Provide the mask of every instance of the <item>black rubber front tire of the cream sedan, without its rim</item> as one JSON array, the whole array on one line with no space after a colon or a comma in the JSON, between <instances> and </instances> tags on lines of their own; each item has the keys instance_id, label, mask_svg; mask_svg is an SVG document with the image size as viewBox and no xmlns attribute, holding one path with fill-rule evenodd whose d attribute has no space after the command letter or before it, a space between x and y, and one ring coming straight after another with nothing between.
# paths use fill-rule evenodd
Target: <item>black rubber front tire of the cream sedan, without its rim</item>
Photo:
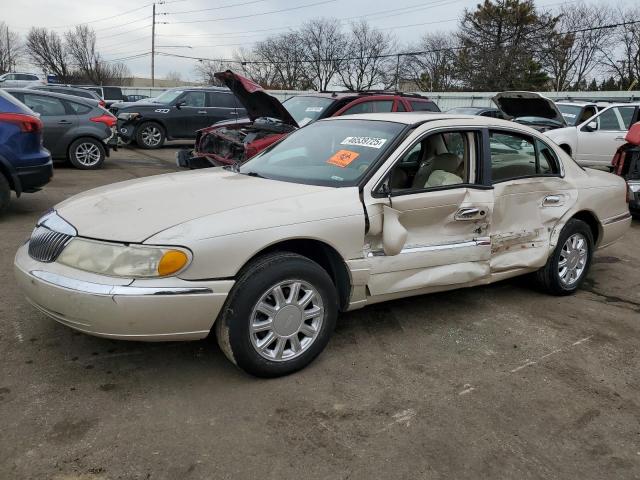
<instances>
[{"instance_id":1,"label":"black rubber front tire of the cream sedan, without its rim","mask_svg":"<svg viewBox=\"0 0 640 480\"><path fill-rule=\"evenodd\" d=\"M254 307L260 303L267 292L272 291L272 287L294 280L311 286L317 296L320 297L324 307L323 314L318 316L318 319L322 318L321 324L316 330L317 333L313 337L314 339L309 341L306 347L300 347L301 342L297 340L296 343L300 348L297 354L294 353L293 343L290 343L291 340L284 341L283 348L286 349L286 346L289 346L285 352L288 351L289 355L297 356L289 360L270 360L259 354L258 347L254 347L253 344L256 337L251 332L250 324L253 322ZM287 290L287 287L283 286L282 291L289 292L286 295L289 297L287 301L293 298L292 290ZM304 293L301 290L303 297ZM286 302L285 306L289 307ZM312 306L312 308L317 307ZM240 274L227 299L223 314L215 324L216 337L226 357L245 372L258 377L279 377L304 368L324 350L335 328L337 316L338 295L327 272L320 265L306 257L294 253L278 252L256 259ZM273 318L275 319L276 316L274 315ZM280 320L282 319L283 317L280 317ZM285 320L285 322L288 321L290 321L290 317ZM302 323L305 322L304 320L302 321ZM273 325L273 332L265 332L265 337L270 334L275 335L275 320ZM278 325L283 324L279 323ZM306 338L303 333L294 333L293 336L296 338L302 336L303 342ZM269 343L274 345L273 350L264 348L263 351L269 350L275 355L280 340L274 337L271 342ZM268 346L265 345L265 347ZM282 355L284 355L284 352Z\"/></svg>"}]
</instances>

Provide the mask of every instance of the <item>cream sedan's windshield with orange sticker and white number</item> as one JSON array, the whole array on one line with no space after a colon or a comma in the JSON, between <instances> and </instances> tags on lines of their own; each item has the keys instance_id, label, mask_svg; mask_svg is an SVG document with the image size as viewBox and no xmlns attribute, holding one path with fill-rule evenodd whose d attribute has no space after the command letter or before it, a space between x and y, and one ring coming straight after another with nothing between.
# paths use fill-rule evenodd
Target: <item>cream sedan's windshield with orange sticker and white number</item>
<instances>
[{"instance_id":1,"label":"cream sedan's windshield with orange sticker and white number","mask_svg":"<svg viewBox=\"0 0 640 480\"><path fill-rule=\"evenodd\" d=\"M285 182L354 186L404 128L376 120L316 122L264 150L239 171Z\"/></svg>"}]
</instances>

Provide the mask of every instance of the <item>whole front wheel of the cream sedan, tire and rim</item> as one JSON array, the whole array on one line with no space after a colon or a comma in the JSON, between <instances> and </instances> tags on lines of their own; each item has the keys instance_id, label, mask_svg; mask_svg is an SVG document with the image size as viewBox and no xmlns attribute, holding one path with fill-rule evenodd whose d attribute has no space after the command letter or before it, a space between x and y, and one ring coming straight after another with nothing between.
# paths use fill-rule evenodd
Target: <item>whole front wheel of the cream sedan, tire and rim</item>
<instances>
[{"instance_id":1,"label":"whole front wheel of the cream sedan, tire and rim","mask_svg":"<svg viewBox=\"0 0 640 480\"><path fill-rule=\"evenodd\" d=\"M259 258L238 279L216 322L227 358L259 377L304 368L335 327L338 296L327 272L293 253Z\"/></svg>"}]
</instances>

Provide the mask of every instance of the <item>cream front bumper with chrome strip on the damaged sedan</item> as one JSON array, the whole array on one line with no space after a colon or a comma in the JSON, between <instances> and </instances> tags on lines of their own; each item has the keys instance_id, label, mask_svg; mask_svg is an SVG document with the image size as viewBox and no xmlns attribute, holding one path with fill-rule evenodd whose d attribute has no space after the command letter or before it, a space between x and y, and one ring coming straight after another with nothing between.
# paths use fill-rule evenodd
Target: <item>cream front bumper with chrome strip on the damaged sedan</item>
<instances>
[{"instance_id":1,"label":"cream front bumper with chrome strip on the damaged sedan","mask_svg":"<svg viewBox=\"0 0 640 480\"><path fill-rule=\"evenodd\" d=\"M121 340L206 337L232 280L117 279L32 259L23 245L14 269L29 302L73 329Z\"/></svg>"}]
</instances>

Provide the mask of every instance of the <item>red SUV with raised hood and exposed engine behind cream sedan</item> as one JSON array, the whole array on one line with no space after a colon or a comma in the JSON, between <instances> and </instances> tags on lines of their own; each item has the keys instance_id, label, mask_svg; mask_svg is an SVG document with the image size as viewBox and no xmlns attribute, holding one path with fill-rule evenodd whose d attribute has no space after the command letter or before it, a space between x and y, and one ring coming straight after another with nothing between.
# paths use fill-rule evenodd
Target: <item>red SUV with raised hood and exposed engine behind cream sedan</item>
<instances>
[{"instance_id":1,"label":"red SUV with raised hood and exposed engine behind cream sedan","mask_svg":"<svg viewBox=\"0 0 640 480\"><path fill-rule=\"evenodd\" d=\"M249 118L218 122L196 132L194 150L182 150L177 163L185 168L240 164L292 131L322 118L355 113L439 112L428 98L407 93L318 92L296 95L283 103L260 85L229 70L221 80L236 95Z\"/></svg>"}]
</instances>

